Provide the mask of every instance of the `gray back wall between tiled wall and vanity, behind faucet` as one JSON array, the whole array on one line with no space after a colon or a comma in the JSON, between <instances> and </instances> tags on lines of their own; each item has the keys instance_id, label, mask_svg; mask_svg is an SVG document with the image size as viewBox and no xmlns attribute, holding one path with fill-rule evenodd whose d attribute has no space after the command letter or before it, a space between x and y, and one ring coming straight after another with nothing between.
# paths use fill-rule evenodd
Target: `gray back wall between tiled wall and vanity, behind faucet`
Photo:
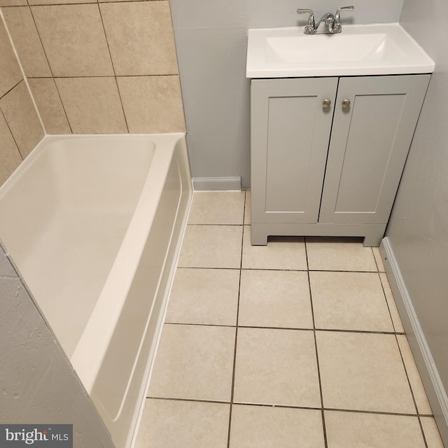
<instances>
[{"instance_id":1,"label":"gray back wall between tiled wall and vanity, behind faucet","mask_svg":"<svg viewBox=\"0 0 448 448\"><path fill-rule=\"evenodd\" d=\"M171 0L174 35L195 177L241 176L250 184L249 28L304 25L297 8L316 17L353 4L346 22L398 22L402 0ZM300 22L299 22L300 20Z\"/></svg>"}]
</instances>

